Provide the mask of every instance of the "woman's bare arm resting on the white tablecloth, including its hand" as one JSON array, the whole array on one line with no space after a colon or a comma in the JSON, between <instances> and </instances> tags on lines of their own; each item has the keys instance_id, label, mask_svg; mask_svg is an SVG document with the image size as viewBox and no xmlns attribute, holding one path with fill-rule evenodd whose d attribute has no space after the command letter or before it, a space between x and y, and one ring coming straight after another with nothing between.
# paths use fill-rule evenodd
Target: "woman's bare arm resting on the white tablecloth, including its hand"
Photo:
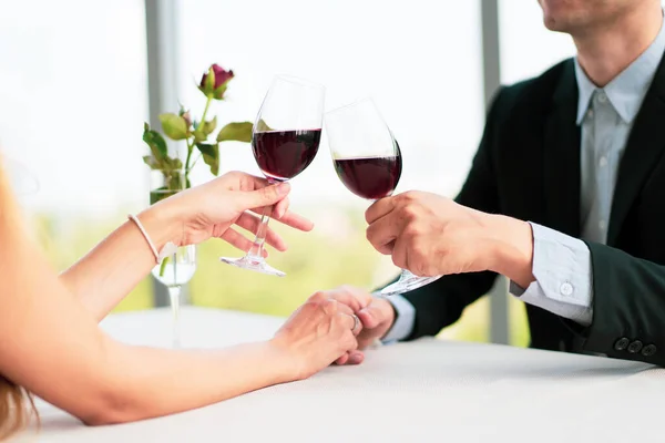
<instances>
[{"instance_id":1,"label":"woman's bare arm resting on the white tablecloth, including its hand","mask_svg":"<svg viewBox=\"0 0 665 443\"><path fill-rule=\"evenodd\" d=\"M308 377L357 346L351 317L329 300L306 303L266 342L218 351L120 343L7 214L0 213L0 373L86 423L185 411ZM134 253L135 266L151 266L150 250Z\"/></svg>"}]
</instances>

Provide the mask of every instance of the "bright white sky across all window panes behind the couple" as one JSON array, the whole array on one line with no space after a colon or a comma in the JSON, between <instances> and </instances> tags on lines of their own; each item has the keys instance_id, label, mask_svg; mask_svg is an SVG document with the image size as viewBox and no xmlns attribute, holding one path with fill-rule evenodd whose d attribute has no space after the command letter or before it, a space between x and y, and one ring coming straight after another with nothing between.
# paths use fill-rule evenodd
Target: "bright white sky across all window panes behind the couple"
<instances>
[{"instance_id":1,"label":"bright white sky across all window panes behind the couple","mask_svg":"<svg viewBox=\"0 0 665 443\"><path fill-rule=\"evenodd\" d=\"M329 110L372 95L402 147L398 190L453 195L483 124L480 1L182 1L181 100L201 112L194 84L213 62L237 75L214 110L222 122L253 121L276 73L326 84ZM0 145L41 184L24 200L61 217L145 204L143 2L0 0ZM573 54L535 1L501 0L500 12L504 83ZM365 205L327 150L294 181L294 203ZM223 153L223 171L258 173L247 145Z\"/></svg>"}]
</instances>

